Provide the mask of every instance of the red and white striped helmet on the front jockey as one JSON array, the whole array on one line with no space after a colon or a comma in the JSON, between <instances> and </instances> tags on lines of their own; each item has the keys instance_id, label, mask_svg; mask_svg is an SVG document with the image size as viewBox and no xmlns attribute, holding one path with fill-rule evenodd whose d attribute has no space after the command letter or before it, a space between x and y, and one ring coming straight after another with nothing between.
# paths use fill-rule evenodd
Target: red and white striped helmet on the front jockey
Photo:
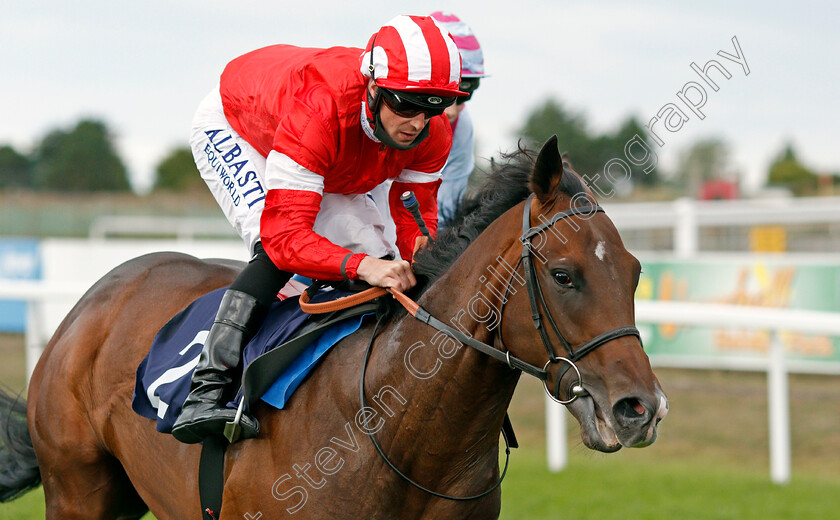
<instances>
[{"instance_id":1,"label":"red and white striped helmet on the front jockey","mask_svg":"<svg viewBox=\"0 0 840 520\"><path fill-rule=\"evenodd\" d=\"M365 47L361 71L382 88L444 97L467 95L458 90L458 47L429 16L397 16L383 25Z\"/></svg>"}]
</instances>

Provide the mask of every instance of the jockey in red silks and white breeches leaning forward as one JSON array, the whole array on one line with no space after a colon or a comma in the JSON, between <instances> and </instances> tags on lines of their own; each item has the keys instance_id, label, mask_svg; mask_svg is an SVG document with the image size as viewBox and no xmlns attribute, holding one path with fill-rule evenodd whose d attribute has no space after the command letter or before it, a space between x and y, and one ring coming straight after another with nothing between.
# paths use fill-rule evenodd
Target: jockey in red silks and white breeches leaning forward
<instances>
[{"instance_id":1,"label":"jockey in red silks and white breeches leaning forward","mask_svg":"<svg viewBox=\"0 0 840 520\"><path fill-rule=\"evenodd\" d=\"M440 172L452 144L443 116L460 56L432 18L398 16L363 49L275 45L230 62L202 101L190 146L210 190L253 255L222 298L172 434L221 434L235 411L227 385L291 273L406 290L426 240L402 206L413 190L437 228ZM393 179L394 244L365 194ZM259 433L243 414L242 437Z\"/></svg>"}]
</instances>

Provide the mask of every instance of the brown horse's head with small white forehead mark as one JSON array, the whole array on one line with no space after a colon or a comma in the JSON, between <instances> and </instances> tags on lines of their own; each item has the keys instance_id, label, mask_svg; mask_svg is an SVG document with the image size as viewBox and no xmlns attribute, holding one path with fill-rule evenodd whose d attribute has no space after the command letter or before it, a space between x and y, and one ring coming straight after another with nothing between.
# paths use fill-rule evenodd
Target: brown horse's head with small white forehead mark
<instances>
[{"instance_id":1,"label":"brown horse's head with small white forehead mark","mask_svg":"<svg viewBox=\"0 0 840 520\"><path fill-rule=\"evenodd\" d=\"M540 151L530 186L519 270L529 287L510 295L507 305L518 311L506 313L502 336L525 361L552 359L546 388L572 400L587 447L647 446L668 405L633 326L641 265L571 165L564 167L556 137Z\"/></svg>"}]
</instances>

